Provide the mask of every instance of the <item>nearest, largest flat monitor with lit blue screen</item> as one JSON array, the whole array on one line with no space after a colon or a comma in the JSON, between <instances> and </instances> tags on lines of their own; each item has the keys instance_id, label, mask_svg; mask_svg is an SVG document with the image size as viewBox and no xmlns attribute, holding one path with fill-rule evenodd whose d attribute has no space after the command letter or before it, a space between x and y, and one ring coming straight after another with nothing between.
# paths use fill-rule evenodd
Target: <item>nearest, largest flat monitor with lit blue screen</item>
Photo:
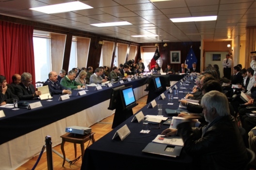
<instances>
[{"instance_id":1,"label":"nearest, largest flat monitor with lit blue screen","mask_svg":"<svg viewBox=\"0 0 256 170\"><path fill-rule=\"evenodd\" d=\"M134 106L138 105L136 103L136 99L134 96L132 86L128 86L128 87L120 89L120 94L121 94L123 109L129 110L129 109L133 108Z\"/></svg>"}]
</instances>

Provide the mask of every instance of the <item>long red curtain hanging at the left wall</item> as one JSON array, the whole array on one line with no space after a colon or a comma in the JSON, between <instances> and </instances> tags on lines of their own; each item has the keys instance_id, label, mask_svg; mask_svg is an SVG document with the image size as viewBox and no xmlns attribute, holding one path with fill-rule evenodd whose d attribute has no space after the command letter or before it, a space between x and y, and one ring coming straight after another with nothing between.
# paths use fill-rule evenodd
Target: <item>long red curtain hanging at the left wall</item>
<instances>
[{"instance_id":1,"label":"long red curtain hanging at the left wall","mask_svg":"<svg viewBox=\"0 0 256 170\"><path fill-rule=\"evenodd\" d=\"M33 27L0 21L0 75L12 83L12 75L29 72L35 84Z\"/></svg>"}]
</instances>

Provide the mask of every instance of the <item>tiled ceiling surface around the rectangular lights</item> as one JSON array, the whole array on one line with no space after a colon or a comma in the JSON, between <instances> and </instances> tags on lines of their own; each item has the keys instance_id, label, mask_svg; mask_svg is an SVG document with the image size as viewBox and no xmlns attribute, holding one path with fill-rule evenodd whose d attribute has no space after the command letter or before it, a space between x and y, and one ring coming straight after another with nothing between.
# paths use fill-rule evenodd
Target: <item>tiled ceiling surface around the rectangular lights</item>
<instances>
[{"instance_id":1,"label":"tiled ceiling surface around the rectangular lights","mask_svg":"<svg viewBox=\"0 0 256 170\"><path fill-rule=\"evenodd\" d=\"M78 29L132 42L208 42L245 40L246 27L256 26L255 0L80 0L93 9L59 14L29 10L76 0L0 0L0 14ZM173 23L169 18L217 15L217 21ZM132 25L90 24L128 21ZM159 37L134 38L131 35Z\"/></svg>"}]
</instances>

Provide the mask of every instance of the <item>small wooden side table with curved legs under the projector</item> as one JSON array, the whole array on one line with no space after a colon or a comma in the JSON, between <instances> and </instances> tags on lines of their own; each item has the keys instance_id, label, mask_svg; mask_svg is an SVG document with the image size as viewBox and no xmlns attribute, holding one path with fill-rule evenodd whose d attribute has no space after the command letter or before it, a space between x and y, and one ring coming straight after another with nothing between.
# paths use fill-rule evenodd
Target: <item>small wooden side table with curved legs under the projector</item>
<instances>
[{"instance_id":1,"label":"small wooden side table with curved legs under the projector","mask_svg":"<svg viewBox=\"0 0 256 170\"><path fill-rule=\"evenodd\" d=\"M82 153L82 158L83 158L84 143L90 140L90 136L91 136L91 139L92 139L92 143L95 142L95 139L94 139L95 132L91 132L90 134L91 135L89 135L89 134L86 134L86 135L76 134L75 135L73 133L66 133L66 134L61 136L61 138L62 138L61 150L62 150L62 154L63 154L63 164L62 164L62 166L63 167L64 167L65 160L66 160L65 151L64 151L64 144L65 144L65 142L74 143L75 157L77 157L77 143L80 143L81 153Z\"/></svg>"}]
</instances>

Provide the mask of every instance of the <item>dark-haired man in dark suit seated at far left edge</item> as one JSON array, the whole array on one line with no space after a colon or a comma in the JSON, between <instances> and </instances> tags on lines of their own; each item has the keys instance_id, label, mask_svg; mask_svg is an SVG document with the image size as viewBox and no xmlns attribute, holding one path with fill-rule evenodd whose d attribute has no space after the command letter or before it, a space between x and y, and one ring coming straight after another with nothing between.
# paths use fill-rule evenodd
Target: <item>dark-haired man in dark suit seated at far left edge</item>
<instances>
[{"instance_id":1,"label":"dark-haired man in dark suit seated at far left edge","mask_svg":"<svg viewBox=\"0 0 256 170\"><path fill-rule=\"evenodd\" d=\"M13 99L19 100L18 97L7 88L6 78L0 75L0 106L13 103Z\"/></svg>"}]
</instances>

